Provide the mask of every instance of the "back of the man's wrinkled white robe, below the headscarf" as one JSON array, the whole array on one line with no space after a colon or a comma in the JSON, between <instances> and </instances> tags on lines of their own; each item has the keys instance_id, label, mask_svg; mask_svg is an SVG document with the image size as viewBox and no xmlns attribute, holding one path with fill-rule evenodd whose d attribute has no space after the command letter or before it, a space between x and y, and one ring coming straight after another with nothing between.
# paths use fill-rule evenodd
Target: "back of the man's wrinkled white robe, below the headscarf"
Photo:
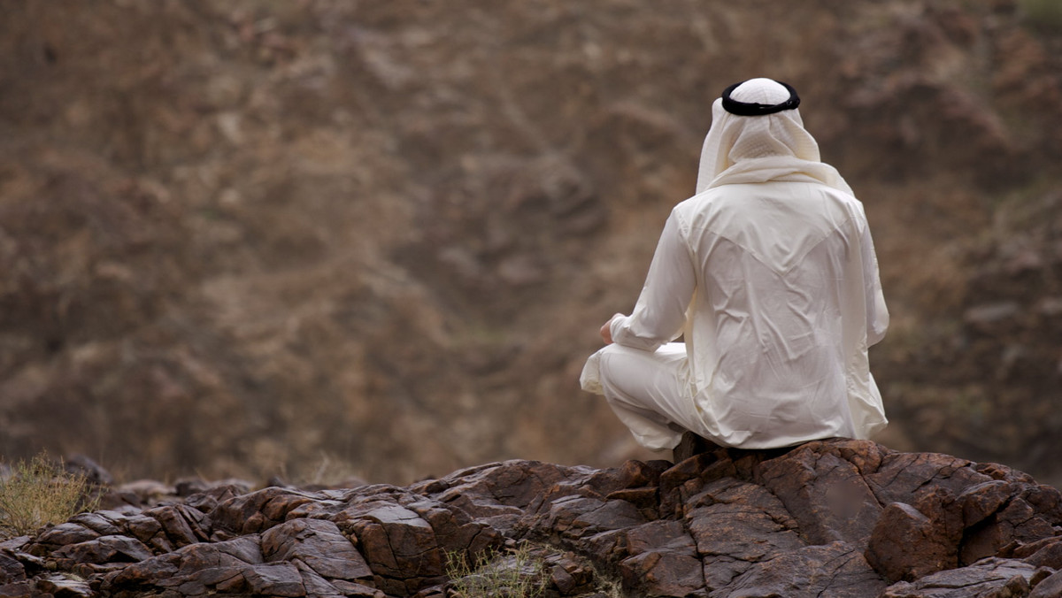
<instances>
[{"instance_id":1,"label":"back of the man's wrinkled white robe, below the headscarf","mask_svg":"<svg viewBox=\"0 0 1062 598\"><path fill-rule=\"evenodd\" d=\"M849 365L874 301L859 203L817 183L723 185L674 216L698 276L691 381L715 434L750 447L855 435L849 389L869 371Z\"/></svg>"}]
</instances>

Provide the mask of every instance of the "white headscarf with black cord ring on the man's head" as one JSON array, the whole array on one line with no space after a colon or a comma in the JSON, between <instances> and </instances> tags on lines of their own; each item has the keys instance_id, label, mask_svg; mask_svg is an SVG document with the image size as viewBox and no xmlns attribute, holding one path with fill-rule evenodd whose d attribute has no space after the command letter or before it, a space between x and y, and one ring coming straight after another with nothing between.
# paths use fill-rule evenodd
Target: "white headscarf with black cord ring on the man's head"
<instances>
[{"instance_id":1,"label":"white headscarf with black cord ring on the man's head","mask_svg":"<svg viewBox=\"0 0 1062 598\"><path fill-rule=\"evenodd\" d=\"M804 181L851 194L840 173L820 160L819 144L804 129L799 104L792 87L770 79L727 87L712 104L697 192L736 183Z\"/></svg>"}]
</instances>

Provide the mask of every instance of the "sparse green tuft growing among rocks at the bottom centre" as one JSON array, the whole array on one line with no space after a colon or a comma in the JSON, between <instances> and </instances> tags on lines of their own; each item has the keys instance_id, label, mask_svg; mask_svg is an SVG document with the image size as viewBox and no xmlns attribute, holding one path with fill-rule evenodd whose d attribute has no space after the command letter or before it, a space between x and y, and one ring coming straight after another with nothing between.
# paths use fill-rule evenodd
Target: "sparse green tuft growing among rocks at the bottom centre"
<instances>
[{"instance_id":1,"label":"sparse green tuft growing among rocks at the bottom centre","mask_svg":"<svg viewBox=\"0 0 1062 598\"><path fill-rule=\"evenodd\" d=\"M446 553L450 587L463 598L536 598L543 595L545 561L524 544L513 550L487 548L470 562L463 552Z\"/></svg>"}]
</instances>

